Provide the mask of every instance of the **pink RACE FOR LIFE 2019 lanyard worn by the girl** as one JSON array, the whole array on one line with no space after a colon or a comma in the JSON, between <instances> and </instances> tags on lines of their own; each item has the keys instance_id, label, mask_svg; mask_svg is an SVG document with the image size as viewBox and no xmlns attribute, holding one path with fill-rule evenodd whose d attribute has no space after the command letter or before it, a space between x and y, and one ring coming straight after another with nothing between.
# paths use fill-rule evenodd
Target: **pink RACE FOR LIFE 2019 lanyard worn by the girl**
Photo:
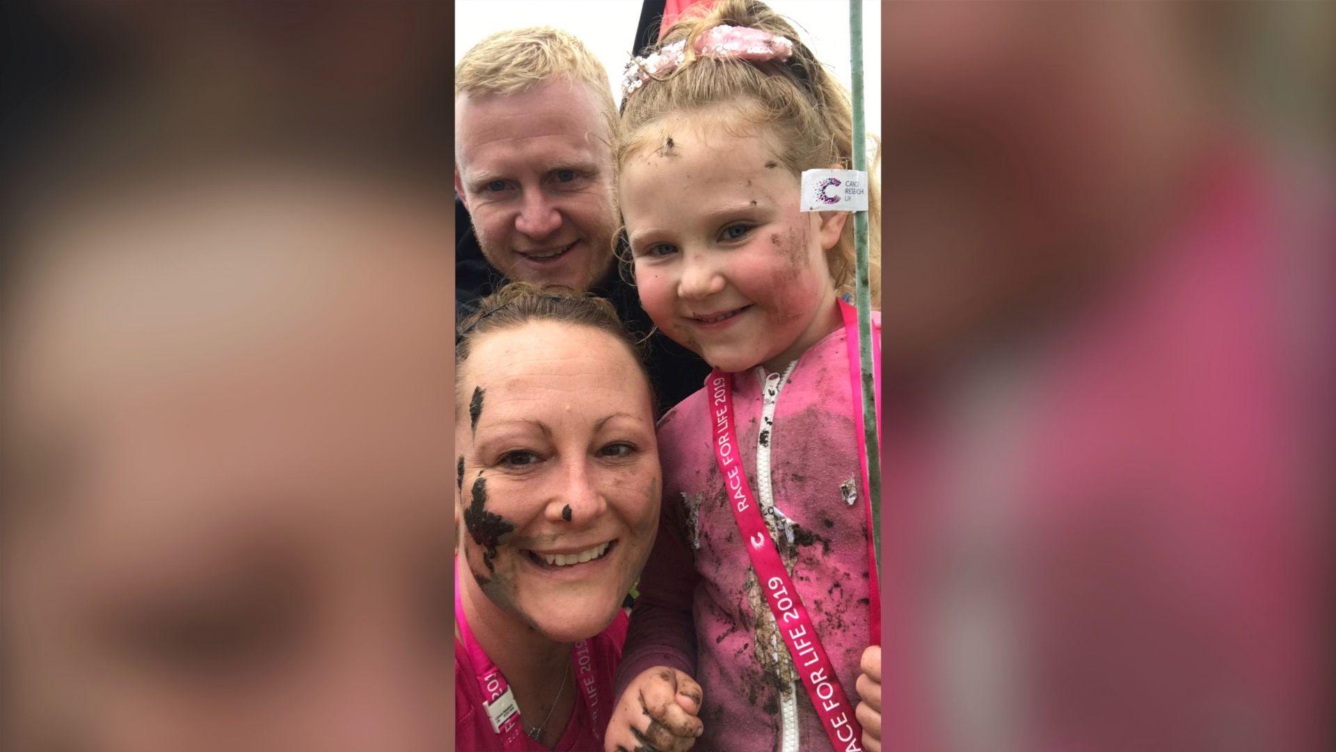
<instances>
[{"instance_id":1,"label":"pink RACE FOR LIFE 2019 lanyard worn by the girl","mask_svg":"<svg viewBox=\"0 0 1336 752\"><path fill-rule=\"evenodd\" d=\"M868 511L866 515L868 518L868 531L871 531L871 499L867 495L867 459L866 450L863 447L862 438L862 388L859 381L859 368L858 368L858 321L856 314L851 320L850 312L852 306L840 301L840 313L844 318L844 331L847 336L847 343L850 348L850 361L852 364L851 379L854 384L854 403L855 413L859 416L859 454L863 458L863 498L868 500L864 504ZM876 339L872 340L874 353L880 349L878 347ZM874 359L875 361L875 359ZM880 397L880 381L878 383L878 397ZM826 649L822 648L822 642L816 636L816 629L812 626L811 618L807 616L807 607L803 605L802 598L798 595L798 590L794 587L788 573L784 570L784 563L779 558L779 551L775 550L775 542L770 537L770 530L766 529L766 522L760 516L760 507L756 504L756 498L752 495L751 486L747 483L747 474L743 471L740 454L737 447L737 435L733 430L733 396L732 384L729 376L715 369L709 375L707 381L707 388L709 389L713 409L713 432L715 432L715 460L719 463L719 471L724 476L724 483L728 487L728 498L732 502L729 506L733 510L733 519L737 521L737 529L743 534L743 539L747 541L747 554L751 558L752 569L756 571L756 579L762 585L762 590L766 593L766 601L770 603L771 613L775 614L775 622L779 626L780 633L784 636L784 644L788 646L788 653L794 658L794 666L798 669L803 678L803 685L807 688L807 696L812 701L812 708L816 711L818 717L822 720L822 728L826 729L826 735L831 740L831 747L835 749L843 749L846 752L860 752L863 729L859 727L858 720L854 717L854 705L848 702L844 696L844 689L839 684L839 677L835 676L835 670L831 666L830 658L826 656ZM880 416L880 400L878 400L878 416ZM878 420L880 424L880 420ZM878 427L878 430L880 430ZM872 558L872 543L871 537L868 537L868 558ZM880 618L879 618L879 597L878 597L878 578L876 566L868 567L871 570L868 583L871 586L871 606L872 606L872 640L875 644L880 644Z\"/></svg>"}]
</instances>

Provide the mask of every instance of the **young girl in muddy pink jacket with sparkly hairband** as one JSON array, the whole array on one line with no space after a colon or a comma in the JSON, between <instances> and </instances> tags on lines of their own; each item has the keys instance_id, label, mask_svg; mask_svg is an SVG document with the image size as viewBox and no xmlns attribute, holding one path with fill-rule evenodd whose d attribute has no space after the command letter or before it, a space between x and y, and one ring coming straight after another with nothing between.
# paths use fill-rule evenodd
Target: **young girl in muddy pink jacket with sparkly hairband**
<instances>
[{"instance_id":1,"label":"young girl in muddy pink jacket with sparkly hairband","mask_svg":"<svg viewBox=\"0 0 1336 752\"><path fill-rule=\"evenodd\" d=\"M663 515L605 748L876 749L879 601L840 300L854 222L799 202L803 170L850 166L848 98L741 0L675 24L625 86L640 298L715 372L659 426Z\"/></svg>"}]
</instances>

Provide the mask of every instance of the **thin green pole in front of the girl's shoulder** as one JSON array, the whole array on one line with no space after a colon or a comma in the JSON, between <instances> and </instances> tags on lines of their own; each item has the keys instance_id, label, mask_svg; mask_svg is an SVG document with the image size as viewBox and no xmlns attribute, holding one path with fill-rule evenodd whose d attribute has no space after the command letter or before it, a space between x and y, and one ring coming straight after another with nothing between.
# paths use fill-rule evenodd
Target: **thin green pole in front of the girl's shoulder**
<instances>
[{"instance_id":1,"label":"thin green pole in front of the girl's shoulder","mask_svg":"<svg viewBox=\"0 0 1336 752\"><path fill-rule=\"evenodd\" d=\"M867 134L863 126L863 0L848 1L848 56L854 91L854 169L867 170ZM868 181L871 183L871 181ZM871 185L868 185L871 187ZM871 191L868 191L871 199ZM876 442L876 403L872 383L872 289L868 281L867 211L854 213L854 304L858 309L858 357L863 384L863 444L867 447L867 502L872 506L872 546L882 569L882 452Z\"/></svg>"}]
</instances>

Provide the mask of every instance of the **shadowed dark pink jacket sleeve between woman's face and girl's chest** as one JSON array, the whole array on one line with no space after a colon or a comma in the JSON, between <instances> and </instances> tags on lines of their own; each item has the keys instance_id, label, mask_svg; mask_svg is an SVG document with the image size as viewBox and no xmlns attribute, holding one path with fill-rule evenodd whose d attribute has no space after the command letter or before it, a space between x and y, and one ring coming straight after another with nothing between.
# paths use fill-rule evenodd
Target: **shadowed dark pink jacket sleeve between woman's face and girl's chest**
<instances>
[{"instance_id":1,"label":"shadowed dark pink jacket sleeve between woman's face and girl's chest","mask_svg":"<svg viewBox=\"0 0 1336 752\"><path fill-rule=\"evenodd\" d=\"M615 696L640 672L672 666L696 673L696 628L691 616L696 591L695 559L683 538L681 504L664 499L659 534L640 575L640 597L631 612L631 628L617 668Z\"/></svg>"}]
</instances>

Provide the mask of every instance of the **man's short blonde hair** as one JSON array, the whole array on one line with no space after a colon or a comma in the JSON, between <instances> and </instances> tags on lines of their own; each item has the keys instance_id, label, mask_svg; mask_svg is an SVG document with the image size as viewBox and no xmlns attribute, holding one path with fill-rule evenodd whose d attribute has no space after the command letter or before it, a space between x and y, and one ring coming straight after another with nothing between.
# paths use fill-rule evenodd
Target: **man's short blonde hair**
<instances>
[{"instance_id":1,"label":"man's short blonde hair","mask_svg":"<svg viewBox=\"0 0 1336 752\"><path fill-rule=\"evenodd\" d=\"M454 67L454 98L464 94L517 94L553 80L587 84L617 132L617 104L608 70L574 36L552 27L498 31L473 45Z\"/></svg>"}]
</instances>

